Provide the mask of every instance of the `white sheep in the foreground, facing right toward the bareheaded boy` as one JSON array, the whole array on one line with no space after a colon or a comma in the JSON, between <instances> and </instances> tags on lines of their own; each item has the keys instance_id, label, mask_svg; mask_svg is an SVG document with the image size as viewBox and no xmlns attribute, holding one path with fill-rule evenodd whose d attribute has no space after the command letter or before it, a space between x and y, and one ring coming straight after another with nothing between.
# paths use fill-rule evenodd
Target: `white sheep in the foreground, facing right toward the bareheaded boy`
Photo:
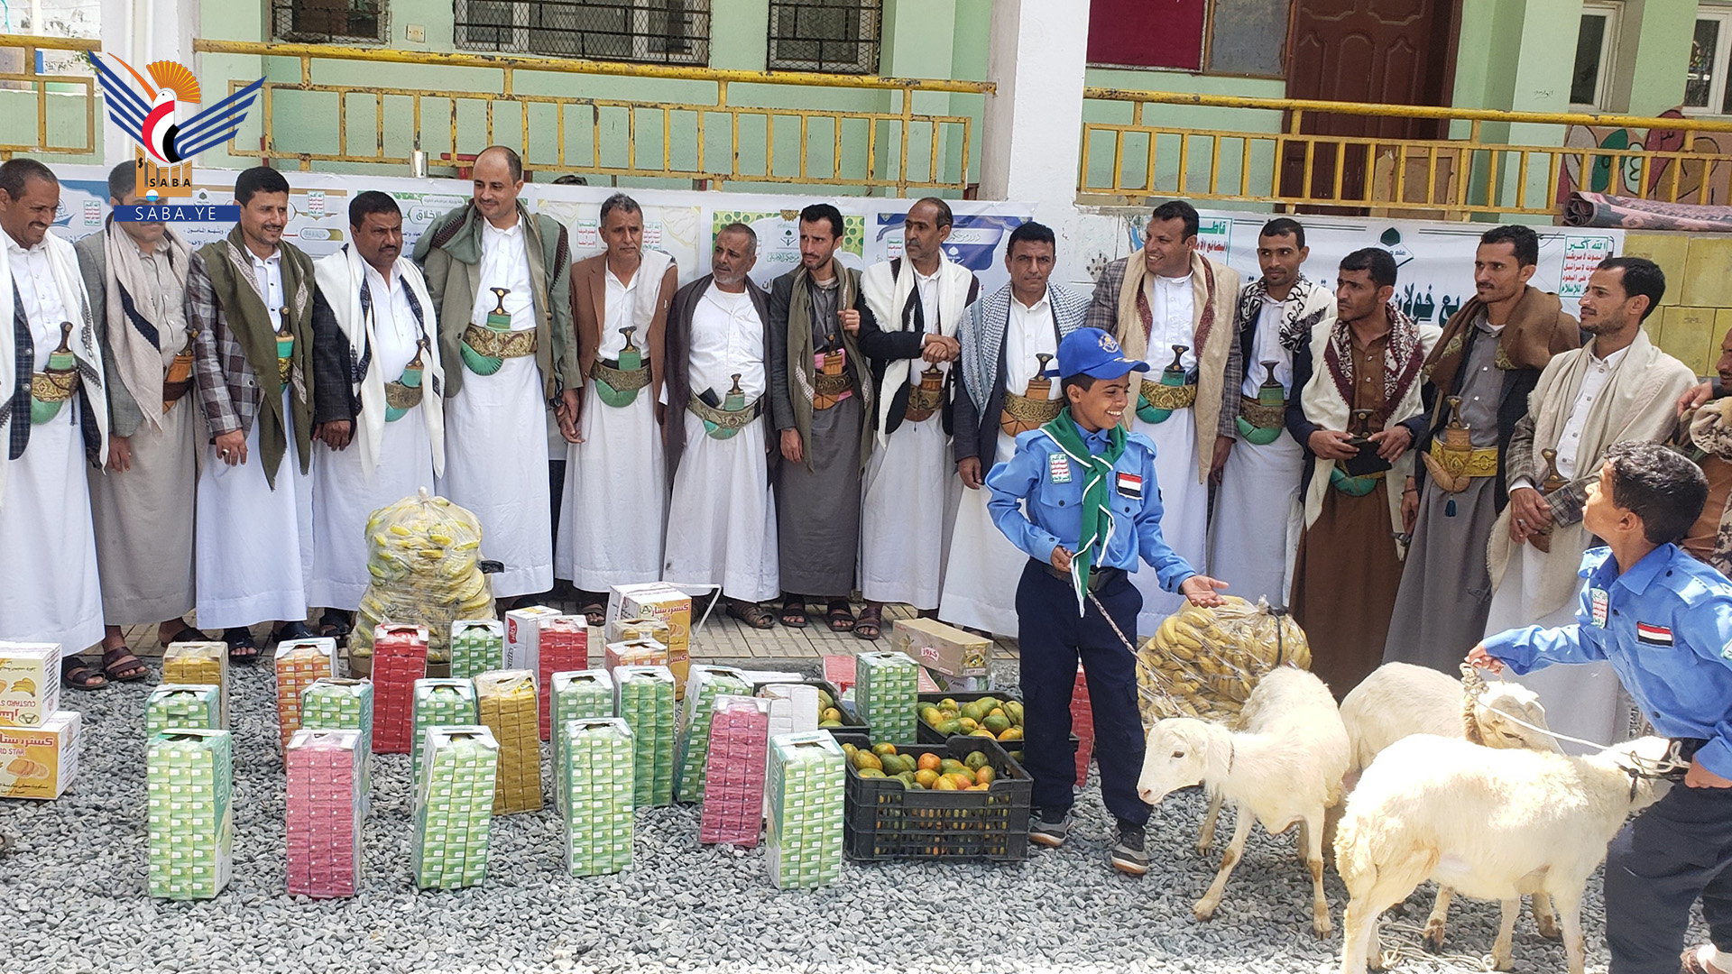
<instances>
[{"instance_id":1,"label":"white sheep in the foreground, facing right toward the bareheaded boy","mask_svg":"<svg viewBox=\"0 0 1732 974\"><path fill-rule=\"evenodd\" d=\"M1377 917L1427 879L1498 899L1491 958L1510 964L1524 893L1545 893L1564 925L1569 974L1581 974L1581 894L1625 820L1659 794L1632 776L1632 754L1658 759L1666 742L1642 738L1588 757L1490 750L1436 735L1384 749L1347 797L1335 828L1335 870L1347 886L1341 972L1365 974L1379 955Z\"/></svg>"}]
</instances>

